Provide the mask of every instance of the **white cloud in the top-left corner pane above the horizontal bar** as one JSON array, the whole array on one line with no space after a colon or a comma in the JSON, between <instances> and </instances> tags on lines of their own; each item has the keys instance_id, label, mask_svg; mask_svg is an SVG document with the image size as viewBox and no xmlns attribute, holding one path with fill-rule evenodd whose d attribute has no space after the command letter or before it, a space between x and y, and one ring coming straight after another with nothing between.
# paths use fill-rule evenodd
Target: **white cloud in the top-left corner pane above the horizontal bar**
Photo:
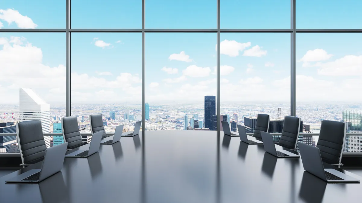
<instances>
[{"instance_id":1,"label":"white cloud in the top-left corner pane above the horizontal bar","mask_svg":"<svg viewBox=\"0 0 362 203\"><path fill-rule=\"evenodd\" d=\"M9 23L9 25L13 22L16 23L18 28L28 28L28 29L34 29L38 25L31 20L28 16L22 16L17 10L13 9L7 9L2 10L0 9L0 20L4 20ZM3 24L0 24L0 27Z\"/></svg>"}]
</instances>

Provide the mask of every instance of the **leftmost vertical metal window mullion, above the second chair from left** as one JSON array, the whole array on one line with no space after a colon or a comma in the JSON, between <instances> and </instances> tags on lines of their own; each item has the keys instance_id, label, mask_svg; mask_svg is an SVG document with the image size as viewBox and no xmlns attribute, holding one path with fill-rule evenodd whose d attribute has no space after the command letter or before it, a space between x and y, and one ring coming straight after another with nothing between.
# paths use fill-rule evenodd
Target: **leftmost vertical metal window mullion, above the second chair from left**
<instances>
[{"instance_id":1,"label":"leftmost vertical metal window mullion, above the second chair from left","mask_svg":"<svg viewBox=\"0 0 362 203\"><path fill-rule=\"evenodd\" d=\"M66 116L71 116L71 0L66 3Z\"/></svg>"}]
</instances>

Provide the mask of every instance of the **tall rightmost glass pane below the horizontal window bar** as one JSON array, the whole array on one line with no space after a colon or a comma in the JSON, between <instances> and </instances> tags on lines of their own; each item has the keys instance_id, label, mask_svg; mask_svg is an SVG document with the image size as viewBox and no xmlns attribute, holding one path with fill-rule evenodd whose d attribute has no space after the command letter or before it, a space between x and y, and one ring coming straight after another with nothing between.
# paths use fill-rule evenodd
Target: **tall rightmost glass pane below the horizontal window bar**
<instances>
[{"instance_id":1,"label":"tall rightmost glass pane below the horizontal window bar","mask_svg":"<svg viewBox=\"0 0 362 203\"><path fill-rule=\"evenodd\" d=\"M362 42L360 33L296 34L296 115L308 131L322 120L347 122L347 133L361 133ZM333 43L331 43L333 41ZM346 152L362 152L348 136Z\"/></svg>"}]
</instances>

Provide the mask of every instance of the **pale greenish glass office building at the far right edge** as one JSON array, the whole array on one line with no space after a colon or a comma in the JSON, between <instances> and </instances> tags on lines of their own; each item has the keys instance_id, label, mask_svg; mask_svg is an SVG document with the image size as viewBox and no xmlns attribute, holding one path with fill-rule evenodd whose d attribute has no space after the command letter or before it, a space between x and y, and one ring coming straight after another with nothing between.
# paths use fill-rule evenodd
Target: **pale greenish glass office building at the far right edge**
<instances>
[{"instance_id":1,"label":"pale greenish glass office building at the far right edge","mask_svg":"<svg viewBox=\"0 0 362 203\"><path fill-rule=\"evenodd\" d=\"M362 112L343 111L342 121L347 123L346 133L362 133ZM347 136L344 146L345 152L362 152L362 136Z\"/></svg>"}]
</instances>

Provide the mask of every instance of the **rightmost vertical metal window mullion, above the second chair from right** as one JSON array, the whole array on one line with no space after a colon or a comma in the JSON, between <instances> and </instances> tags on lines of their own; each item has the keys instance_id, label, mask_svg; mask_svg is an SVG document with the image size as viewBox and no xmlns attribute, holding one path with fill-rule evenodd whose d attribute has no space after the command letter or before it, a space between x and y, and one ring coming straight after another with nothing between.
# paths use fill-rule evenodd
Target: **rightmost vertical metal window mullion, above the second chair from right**
<instances>
[{"instance_id":1,"label":"rightmost vertical metal window mullion, above the second chair from right","mask_svg":"<svg viewBox=\"0 0 362 203\"><path fill-rule=\"evenodd\" d=\"M290 34L290 115L295 116L295 0L291 0L290 18L292 29Z\"/></svg>"}]
</instances>

